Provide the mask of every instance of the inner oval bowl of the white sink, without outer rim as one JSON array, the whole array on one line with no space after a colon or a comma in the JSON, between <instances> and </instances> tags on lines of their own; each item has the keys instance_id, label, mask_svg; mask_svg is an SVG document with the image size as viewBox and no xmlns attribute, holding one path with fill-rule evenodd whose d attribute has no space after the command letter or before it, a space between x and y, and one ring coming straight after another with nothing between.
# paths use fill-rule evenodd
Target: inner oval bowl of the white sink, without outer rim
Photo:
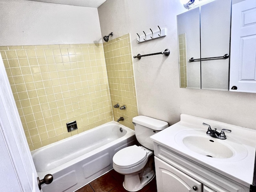
<instances>
[{"instance_id":1,"label":"inner oval bowl of the white sink, without outer rim","mask_svg":"<svg viewBox=\"0 0 256 192\"><path fill-rule=\"evenodd\" d=\"M186 136L182 142L188 149L204 156L224 159L234 155L232 150L223 142L216 139L212 140L208 136Z\"/></svg>"}]
</instances>

